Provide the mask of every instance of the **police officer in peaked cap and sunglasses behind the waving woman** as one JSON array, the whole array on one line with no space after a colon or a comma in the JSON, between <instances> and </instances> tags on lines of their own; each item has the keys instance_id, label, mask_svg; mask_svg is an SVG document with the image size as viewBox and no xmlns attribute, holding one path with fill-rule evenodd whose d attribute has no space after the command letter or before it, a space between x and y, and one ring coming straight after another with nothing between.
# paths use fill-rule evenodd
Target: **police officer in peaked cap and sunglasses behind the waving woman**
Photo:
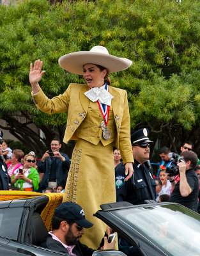
<instances>
[{"instance_id":1,"label":"police officer in peaked cap and sunglasses behind the waving woman","mask_svg":"<svg viewBox=\"0 0 200 256\"><path fill-rule=\"evenodd\" d=\"M144 200L156 200L156 186L150 169L150 142L148 129L139 129L131 136L132 152L135 163L132 177L125 180L125 166L121 162L115 168L116 200L127 201L131 204L144 204Z\"/></svg>"}]
</instances>

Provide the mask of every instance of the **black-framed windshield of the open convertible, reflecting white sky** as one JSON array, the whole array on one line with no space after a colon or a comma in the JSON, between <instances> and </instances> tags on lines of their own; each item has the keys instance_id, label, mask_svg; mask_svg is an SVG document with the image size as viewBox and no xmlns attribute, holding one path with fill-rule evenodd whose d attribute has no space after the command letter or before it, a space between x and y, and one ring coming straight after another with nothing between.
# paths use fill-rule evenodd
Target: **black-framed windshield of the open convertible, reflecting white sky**
<instances>
[{"instance_id":1,"label":"black-framed windshield of the open convertible, reflecting white sky","mask_svg":"<svg viewBox=\"0 0 200 256\"><path fill-rule=\"evenodd\" d=\"M200 215L180 204L148 203L102 205L95 216L125 238L128 255L200 256Z\"/></svg>"}]
</instances>

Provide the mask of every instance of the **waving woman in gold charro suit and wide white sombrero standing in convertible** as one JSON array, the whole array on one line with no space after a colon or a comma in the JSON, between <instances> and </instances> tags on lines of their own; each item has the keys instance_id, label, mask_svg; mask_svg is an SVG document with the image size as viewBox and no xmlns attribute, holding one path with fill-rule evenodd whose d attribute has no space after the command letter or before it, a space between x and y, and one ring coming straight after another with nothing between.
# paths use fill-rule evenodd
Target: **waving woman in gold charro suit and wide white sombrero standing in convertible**
<instances>
[{"instance_id":1,"label":"waving woman in gold charro suit and wide white sombrero standing in convertible","mask_svg":"<svg viewBox=\"0 0 200 256\"><path fill-rule=\"evenodd\" d=\"M81 242L96 248L104 236L105 224L93 214L100 204L116 202L113 147L120 149L127 179L133 173L127 92L112 87L108 77L109 72L130 67L132 61L112 56L102 46L66 54L59 58L59 65L68 72L83 75L86 84L70 84L62 95L52 99L45 96L38 84L45 72L41 71L42 65L40 60L30 65L33 100L45 113L68 111L63 141L77 143L63 201L81 205L86 218L94 223Z\"/></svg>"}]
</instances>

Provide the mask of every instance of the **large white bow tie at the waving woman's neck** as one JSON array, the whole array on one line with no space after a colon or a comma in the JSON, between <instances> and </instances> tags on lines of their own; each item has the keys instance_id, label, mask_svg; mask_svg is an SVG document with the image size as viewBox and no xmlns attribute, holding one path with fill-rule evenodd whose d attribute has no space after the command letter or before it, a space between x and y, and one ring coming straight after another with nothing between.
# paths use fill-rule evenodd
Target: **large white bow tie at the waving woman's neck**
<instances>
[{"instance_id":1,"label":"large white bow tie at the waving woman's neck","mask_svg":"<svg viewBox=\"0 0 200 256\"><path fill-rule=\"evenodd\" d=\"M114 96L111 95L111 93L107 92L105 88L98 88L93 87L88 92L85 92L84 95L88 97L93 102L96 102L99 100L102 104L111 106L111 99L114 98Z\"/></svg>"}]
</instances>

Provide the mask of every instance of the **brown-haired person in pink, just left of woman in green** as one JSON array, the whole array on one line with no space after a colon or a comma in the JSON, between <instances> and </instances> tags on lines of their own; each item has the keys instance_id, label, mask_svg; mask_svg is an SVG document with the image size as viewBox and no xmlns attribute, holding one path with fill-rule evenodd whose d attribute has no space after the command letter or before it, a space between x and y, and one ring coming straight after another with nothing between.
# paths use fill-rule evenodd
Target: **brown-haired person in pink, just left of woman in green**
<instances>
[{"instance_id":1,"label":"brown-haired person in pink, just left of woman in green","mask_svg":"<svg viewBox=\"0 0 200 256\"><path fill-rule=\"evenodd\" d=\"M10 179L12 178L12 175L14 174L15 170L23 167L23 164L21 163L22 157L24 157L24 152L20 149L13 150L13 154L11 157L11 164L8 167L8 175Z\"/></svg>"}]
</instances>

